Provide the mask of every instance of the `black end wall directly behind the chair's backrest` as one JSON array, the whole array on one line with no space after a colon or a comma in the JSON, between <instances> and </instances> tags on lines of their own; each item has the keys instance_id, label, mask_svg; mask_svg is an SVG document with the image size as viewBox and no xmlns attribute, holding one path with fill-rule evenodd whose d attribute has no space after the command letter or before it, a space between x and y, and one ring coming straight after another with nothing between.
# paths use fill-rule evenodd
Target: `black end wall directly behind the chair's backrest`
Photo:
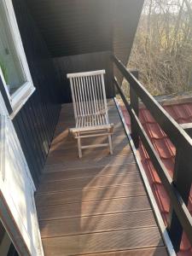
<instances>
[{"instance_id":1,"label":"black end wall directly behind the chair's backrest","mask_svg":"<svg viewBox=\"0 0 192 256\"><path fill-rule=\"evenodd\" d=\"M60 80L60 102L71 102L71 89L67 73L78 73L105 69L105 86L107 97L114 96L113 64L111 52L96 52L84 55L63 56L54 59L57 76Z\"/></svg>"}]
</instances>

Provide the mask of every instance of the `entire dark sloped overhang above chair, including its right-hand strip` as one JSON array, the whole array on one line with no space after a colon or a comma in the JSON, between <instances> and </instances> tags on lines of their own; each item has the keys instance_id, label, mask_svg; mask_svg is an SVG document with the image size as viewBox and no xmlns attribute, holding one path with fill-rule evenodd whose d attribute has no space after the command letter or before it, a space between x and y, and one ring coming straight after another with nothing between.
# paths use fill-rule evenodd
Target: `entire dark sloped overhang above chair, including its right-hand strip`
<instances>
[{"instance_id":1,"label":"entire dark sloped overhang above chair, including its right-hand strip","mask_svg":"<svg viewBox=\"0 0 192 256\"><path fill-rule=\"evenodd\" d=\"M26 0L53 57L112 51L127 61L143 0Z\"/></svg>"}]
</instances>

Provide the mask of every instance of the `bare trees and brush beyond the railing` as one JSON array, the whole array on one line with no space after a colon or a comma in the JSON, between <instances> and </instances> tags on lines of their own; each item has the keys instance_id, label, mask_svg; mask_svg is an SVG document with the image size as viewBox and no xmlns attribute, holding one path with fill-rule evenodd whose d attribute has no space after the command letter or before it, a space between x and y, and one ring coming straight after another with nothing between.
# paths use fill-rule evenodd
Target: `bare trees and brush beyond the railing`
<instances>
[{"instance_id":1,"label":"bare trees and brush beyond the railing","mask_svg":"<svg viewBox=\"0 0 192 256\"><path fill-rule=\"evenodd\" d=\"M192 90L192 0L146 0L128 67L153 95Z\"/></svg>"}]
</instances>

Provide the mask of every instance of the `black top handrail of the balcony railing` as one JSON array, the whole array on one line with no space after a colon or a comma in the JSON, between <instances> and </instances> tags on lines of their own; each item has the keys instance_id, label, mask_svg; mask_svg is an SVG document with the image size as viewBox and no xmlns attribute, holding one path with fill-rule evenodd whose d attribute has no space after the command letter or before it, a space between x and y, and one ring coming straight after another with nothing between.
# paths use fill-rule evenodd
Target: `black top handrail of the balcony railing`
<instances>
[{"instance_id":1,"label":"black top handrail of the balcony railing","mask_svg":"<svg viewBox=\"0 0 192 256\"><path fill-rule=\"evenodd\" d=\"M177 147L183 147L186 150L186 157L191 159L192 155L192 139L189 137L186 131L172 119L171 115L160 106L160 104L151 96L135 77L132 75L125 65L112 55L112 59L119 71L125 76L130 84L133 84L132 88L137 93L137 96L143 101L144 105L150 110L150 113L154 116L154 119L160 124L161 128L166 132L166 135L171 139L172 143Z\"/></svg>"}]
</instances>

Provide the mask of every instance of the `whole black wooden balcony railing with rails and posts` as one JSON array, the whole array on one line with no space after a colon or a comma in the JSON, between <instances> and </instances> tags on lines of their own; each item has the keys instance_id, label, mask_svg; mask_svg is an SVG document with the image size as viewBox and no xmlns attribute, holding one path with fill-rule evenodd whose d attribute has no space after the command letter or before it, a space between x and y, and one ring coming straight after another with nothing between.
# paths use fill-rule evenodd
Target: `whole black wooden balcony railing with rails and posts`
<instances>
[{"instance_id":1,"label":"whole black wooden balcony railing with rails and posts","mask_svg":"<svg viewBox=\"0 0 192 256\"><path fill-rule=\"evenodd\" d=\"M192 217L187 208L192 183L192 139L187 132L172 119L169 113L166 113L166 110L155 101L154 97L151 96L148 93L148 90L143 87L143 84L141 84L138 79L127 70L123 63L114 55L112 56L112 59L120 73L122 73L130 84L130 101L128 102L117 79L114 78L114 84L125 103L125 108L131 116L131 137L136 148L139 146L140 137L148 152L150 160L169 195L171 205L167 230L172 240L173 247L176 252L178 252L183 230L192 245ZM155 151L153 144L150 142L148 135L144 131L143 125L138 118L139 98L176 147L176 161L173 178L168 174L166 167L160 160L160 156Z\"/></svg>"}]
</instances>

